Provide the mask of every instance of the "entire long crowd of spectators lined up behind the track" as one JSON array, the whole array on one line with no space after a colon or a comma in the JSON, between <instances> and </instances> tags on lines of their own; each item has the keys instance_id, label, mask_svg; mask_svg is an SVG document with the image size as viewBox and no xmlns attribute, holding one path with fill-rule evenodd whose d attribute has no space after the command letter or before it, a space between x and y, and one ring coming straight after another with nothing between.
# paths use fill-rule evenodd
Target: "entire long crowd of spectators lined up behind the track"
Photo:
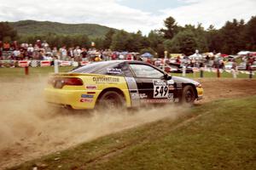
<instances>
[{"instance_id":1,"label":"entire long crowd of spectators lined up behind the track","mask_svg":"<svg viewBox=\"0 0 256 170\"><path fill-rule=\"evenodd\" d=\"M255 53L255 52L254 52ZM117 52L110 49L97 50L96 48L84 48L84 47L69 47L63 46L61 48L50 47L46 41L37 40L33 44L14 42L2 42L0 41L0 59L2 60L69 60L69 61L100 61L100 60L113 60L113 59L136 59L144 60L156 66L167 65L175 63L180 66L190 67L215 67L224 69L225 65L232 62L232 67L236 66L237 56L228 56L222 54L199 54L198 50L195 54L185 56L183 54L166 59L157 58L141 58L138 53ZM253 55L247 54L241 57L241 65L245 65L245 70L248 70L250 65L255 65L256 53Z\"/></svg>"}]
</instances>

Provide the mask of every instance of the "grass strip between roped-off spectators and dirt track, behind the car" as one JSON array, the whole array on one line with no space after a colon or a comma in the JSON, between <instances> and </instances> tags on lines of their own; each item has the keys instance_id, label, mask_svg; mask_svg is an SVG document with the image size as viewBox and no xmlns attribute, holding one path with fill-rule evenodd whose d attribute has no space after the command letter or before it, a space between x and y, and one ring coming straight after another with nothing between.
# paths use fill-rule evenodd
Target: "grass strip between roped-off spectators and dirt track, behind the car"
<instances>
[{"instance_id":1,"label":"grass strip between roped-off spectators and dirt track, behind the car","mask_svg":"<svg viewBox=\"0 0 256 170\"><path fill-rule=\"evenodd\" d=\"M62 66L59 67L59 70L61 72L67 72L73 69L73 66ZM54 72L54 67L49 66L49 67L29 67L29 77L38 77L38 76L47 76L49 73ZM181 73L172 73L173 76L182 76ZM25 71L24 68L0 68L0 77L27 77L25 76ZM200 77L200 73L189 73L186 74L186 77L189 78L198 78ZM217 73L214 72L204 72L204 77L217 77ZM221 73L220 77L225 77L225 78L232 78L232 75L228 72L223 72ZM237 76L238 78L249 78L249 75L247 74L239 74ZM253 76L255 78L255 75Z\"/></svg>"}]
</instances>

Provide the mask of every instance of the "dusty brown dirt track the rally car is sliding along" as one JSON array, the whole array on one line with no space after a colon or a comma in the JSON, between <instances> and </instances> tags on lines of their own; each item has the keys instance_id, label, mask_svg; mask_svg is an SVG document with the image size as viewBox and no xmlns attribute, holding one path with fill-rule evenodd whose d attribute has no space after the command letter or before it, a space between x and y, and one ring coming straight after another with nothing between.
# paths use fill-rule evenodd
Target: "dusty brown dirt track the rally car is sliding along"
<instances>
[{"instance_id":1,"label":"dusty brown dirt track the rally car is sliding along","mask_svg":"<svg viewBox=\"0 0 256 170\"><path fill-rule=\"evenodd\" d=\"M166 116L176 119L185 110L171 105L133 112L60 111L44 103L44 82L0 83L0 169ZM222 78L200 82L205 89L201 105L214 99L256 95L256 80Z\"/></svg>"}]
</instances>

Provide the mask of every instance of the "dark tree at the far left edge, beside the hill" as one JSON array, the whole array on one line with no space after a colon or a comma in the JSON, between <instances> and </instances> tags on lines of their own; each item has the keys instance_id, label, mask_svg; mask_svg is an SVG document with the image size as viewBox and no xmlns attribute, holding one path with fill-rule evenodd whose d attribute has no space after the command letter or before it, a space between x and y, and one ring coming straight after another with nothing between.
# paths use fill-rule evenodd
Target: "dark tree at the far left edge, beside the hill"
<instances>
[{"instance_id":1,"label":"dark tree at the far left edge, beside the hill","mask_svg":"<svg viewBox=\"0 0 256 170\"><path fill-rule=\"evenodd\" d=\"M0 40L2 41L4 37L9 37L8 39L15 40L17 37L17 31L8 22L0 22Z\"/></svg>"}]
</instances>

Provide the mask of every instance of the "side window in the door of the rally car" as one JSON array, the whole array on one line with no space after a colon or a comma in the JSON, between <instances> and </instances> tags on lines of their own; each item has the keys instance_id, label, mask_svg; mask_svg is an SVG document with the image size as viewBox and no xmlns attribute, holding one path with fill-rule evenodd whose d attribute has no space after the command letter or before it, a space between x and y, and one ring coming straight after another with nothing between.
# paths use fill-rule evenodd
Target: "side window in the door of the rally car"
<instances>
[{"instance_id":1,"label":"side window in the door of the rally car","mask_svg":"<svg viewBox=\"0 0 256 170\"><path fill-rule=\"evenodd\" d=\"M149 65L131 64L130 66L136 77L160 78L164 76L161 71Z\"/></svg>"}]
</instances>

